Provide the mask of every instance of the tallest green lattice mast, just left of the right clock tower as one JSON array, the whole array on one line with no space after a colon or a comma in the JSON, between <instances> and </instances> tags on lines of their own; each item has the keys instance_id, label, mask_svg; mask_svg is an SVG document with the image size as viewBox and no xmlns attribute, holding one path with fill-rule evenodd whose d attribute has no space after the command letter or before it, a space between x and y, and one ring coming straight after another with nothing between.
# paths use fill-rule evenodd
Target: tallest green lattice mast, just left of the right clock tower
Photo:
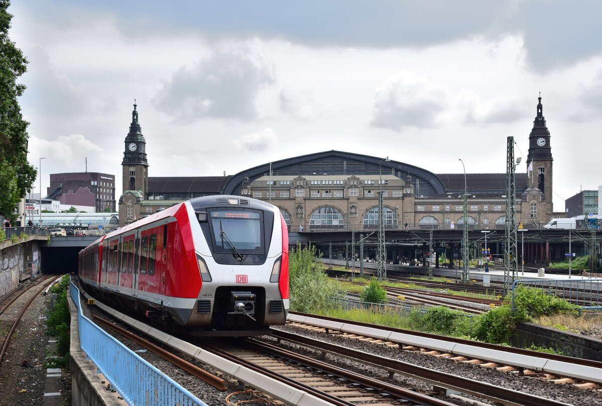
<instances>
[{"instance_id":1,"label":"tallest green lattice mast, just left of the right clock tower","mask_svg":"<svg viewBox=\"0 0 602 406\"><path fill-rule=\"evenodd\" d=\"M518 273L514 169L514 137L508 137L506 150L506 244L504 246L504 290L506 294L512 289Z\"/></svg>"}]
</instances>

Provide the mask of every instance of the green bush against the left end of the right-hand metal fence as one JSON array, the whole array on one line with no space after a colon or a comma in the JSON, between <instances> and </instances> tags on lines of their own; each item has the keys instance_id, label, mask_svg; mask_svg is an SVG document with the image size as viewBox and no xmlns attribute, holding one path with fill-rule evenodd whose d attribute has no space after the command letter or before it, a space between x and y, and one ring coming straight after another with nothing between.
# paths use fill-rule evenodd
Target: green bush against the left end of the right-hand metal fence
<instances>
[{"instance_id":1,"label":"green bush against the left end of the right-hand metal fence","mask_svg":"<svg viewBox=\"0 0 602 406\"><path fill-rule=\"evenodd\" d=\"M506 300L512 300L512 294L507 295ZM516 309L524 310L529 317L551 316L579 309L579 306L564 299L547 295L543 289L527 288L523 285L515 289L514 306Z\"/></svg>"}]
</instances>

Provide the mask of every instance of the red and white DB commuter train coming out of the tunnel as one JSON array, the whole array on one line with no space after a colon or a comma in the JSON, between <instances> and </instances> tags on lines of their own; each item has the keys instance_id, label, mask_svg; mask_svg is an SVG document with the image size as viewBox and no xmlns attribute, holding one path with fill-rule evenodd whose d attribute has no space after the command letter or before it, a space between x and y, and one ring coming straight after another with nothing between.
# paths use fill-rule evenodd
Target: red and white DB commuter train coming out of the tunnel
<instances>
[{"instance_id":1,"label":"red and white DB commuter train coming out of the tunnel","mask_svg":"<svg viewBox=\"0 0 602 406\"><path fill-rule=\"evenodd\" d=\"M287 319L287 224L265 201L193 198L88 245L79 280L153 322L198 335L257 334Z\"/></svg>"}]
</instances>

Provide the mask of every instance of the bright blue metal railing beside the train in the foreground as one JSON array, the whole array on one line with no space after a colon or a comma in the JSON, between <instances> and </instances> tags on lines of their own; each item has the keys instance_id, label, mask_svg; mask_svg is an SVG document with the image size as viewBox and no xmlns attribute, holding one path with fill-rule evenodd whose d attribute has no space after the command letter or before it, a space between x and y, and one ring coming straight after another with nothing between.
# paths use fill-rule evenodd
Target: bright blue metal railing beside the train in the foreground
<instances>
[{"instance_id":1,"label":"bright blue metal railing beside the train in the foreground","mask_svg":"<svg viewBox=\"0 0 602 406\"><path fill-rule=\"evenodd\" d=\"M81 348L128 404L208 406L90 321L81 312L79 289L73 283L70 292L78 307Z\"/></svg>"}]
</instances>

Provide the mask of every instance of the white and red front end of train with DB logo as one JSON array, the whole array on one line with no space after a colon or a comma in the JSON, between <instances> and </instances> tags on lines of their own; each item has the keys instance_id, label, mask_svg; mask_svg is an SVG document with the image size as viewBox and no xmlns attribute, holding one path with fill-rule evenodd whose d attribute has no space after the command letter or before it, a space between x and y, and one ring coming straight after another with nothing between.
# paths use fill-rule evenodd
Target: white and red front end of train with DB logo
<instances>
[{"instance_id":1,"label":"white and red front end of train with DB logo","mask_svg":"<svg viewBox=\"0 0 602 406\"><path fill-rule=\"evenodd\" d=\"M288 230L279 209L234 195L187 204L202 280L188 321L202 329L193 333L253 335L285 324Z\"/></svg>"}]
</instances>

